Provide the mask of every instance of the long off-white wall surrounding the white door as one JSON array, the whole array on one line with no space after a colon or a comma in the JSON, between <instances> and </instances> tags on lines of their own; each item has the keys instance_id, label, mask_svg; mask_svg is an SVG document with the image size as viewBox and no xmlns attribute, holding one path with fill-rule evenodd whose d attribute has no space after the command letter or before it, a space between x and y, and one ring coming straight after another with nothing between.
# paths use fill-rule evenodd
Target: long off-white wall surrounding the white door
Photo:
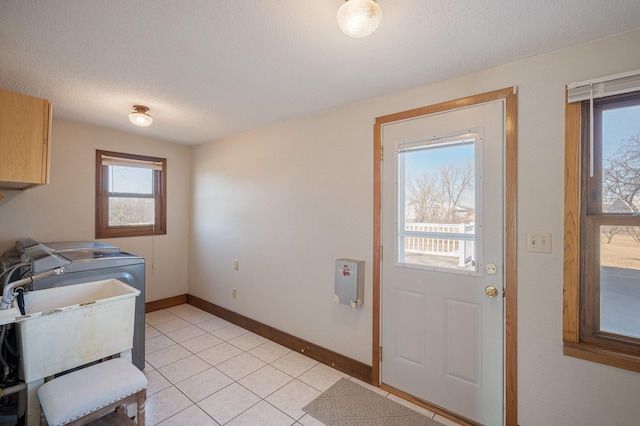
<instances>
[{"instance_id":1,"label":"long off-white wall surrounding the white door","mask_svg":"<svg viewBox=\"0 0 640 426\"><path fill-rule=\"evenodd\" d=\"M189 293L370 364L375 117L515 85L519 423L636 424L640 374L562 355L562 232L565 84L637 68L640 30L194 147ZM358 312L340 257L366 261Z\"/></svg>"}]
</instances>

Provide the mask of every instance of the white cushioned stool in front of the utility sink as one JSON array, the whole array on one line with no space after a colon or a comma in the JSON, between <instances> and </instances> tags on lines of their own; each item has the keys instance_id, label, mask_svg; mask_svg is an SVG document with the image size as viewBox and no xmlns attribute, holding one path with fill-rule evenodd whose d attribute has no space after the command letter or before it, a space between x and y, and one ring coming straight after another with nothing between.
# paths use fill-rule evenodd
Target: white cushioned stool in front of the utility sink
<instances>
[{"instance_id":1,"label":"white cushioned stool in front of the utility sink","mask_svg":"<svg viewBox=\"0 0 640 426\"><path fill-rule=\"evenodd\" d=\"M56 377L38 389L41 425L81 425L136 403L144 426L147 378L130 361L114 358Z\"/></svg>"}]
</instances>

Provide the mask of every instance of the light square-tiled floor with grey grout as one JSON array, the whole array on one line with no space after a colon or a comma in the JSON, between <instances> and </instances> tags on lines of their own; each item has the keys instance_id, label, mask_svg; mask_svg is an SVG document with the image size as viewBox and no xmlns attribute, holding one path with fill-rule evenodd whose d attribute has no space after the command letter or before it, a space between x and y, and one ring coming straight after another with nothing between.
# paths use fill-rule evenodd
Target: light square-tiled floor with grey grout
<instances>
[{"instance_id":1,"label":"light square-tiled floor with grey grout","mask_svg":"<svg viewBox=\"0 0 640 426\"><path fill-rule=\"evenodd\" d=\"M191 305L146 314L146 424L321 425L302 407L341 377L424 408Z\"/></svg>"}]
</instances>

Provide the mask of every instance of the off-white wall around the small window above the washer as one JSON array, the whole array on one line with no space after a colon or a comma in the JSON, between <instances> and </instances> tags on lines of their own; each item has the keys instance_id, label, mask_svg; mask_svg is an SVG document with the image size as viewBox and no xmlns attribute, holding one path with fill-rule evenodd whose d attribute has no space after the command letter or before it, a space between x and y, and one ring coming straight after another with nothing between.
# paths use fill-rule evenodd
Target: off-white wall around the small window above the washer
<instances>
[{"instance_id":1,"label":"off-white wall around the small window above the washer","mask_svg":"<svg viewBox=\"0 0 640 426\"><path fill-rule=\"evenodd\" d=\"M53 106L55 108L55 105ZM95 239L96 149L167 158L167 235L100 241L146 259L147 302L187 292L189 148L184 145L54 120L51 183L7 192L0 200L0 253L20 238Z\"/></svg>"}]
</instances>

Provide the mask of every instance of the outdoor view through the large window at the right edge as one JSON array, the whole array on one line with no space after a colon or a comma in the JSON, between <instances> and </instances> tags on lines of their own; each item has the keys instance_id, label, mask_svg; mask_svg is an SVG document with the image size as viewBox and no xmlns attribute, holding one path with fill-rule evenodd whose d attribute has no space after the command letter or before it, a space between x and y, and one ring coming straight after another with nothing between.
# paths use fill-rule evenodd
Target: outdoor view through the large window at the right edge
<instances>
[{"instance_id":1,"label":"outdoor view through the large window at the right edge","mask_svg":"<svg viewBox=\"0 0 640 426\"><path fill-rule=\"evenodd\" d=\"M602 212L640 214L640 106L602 115ZM600 329L640 338L640 227L600 227Z\"/></svg>"}]
</instances>

